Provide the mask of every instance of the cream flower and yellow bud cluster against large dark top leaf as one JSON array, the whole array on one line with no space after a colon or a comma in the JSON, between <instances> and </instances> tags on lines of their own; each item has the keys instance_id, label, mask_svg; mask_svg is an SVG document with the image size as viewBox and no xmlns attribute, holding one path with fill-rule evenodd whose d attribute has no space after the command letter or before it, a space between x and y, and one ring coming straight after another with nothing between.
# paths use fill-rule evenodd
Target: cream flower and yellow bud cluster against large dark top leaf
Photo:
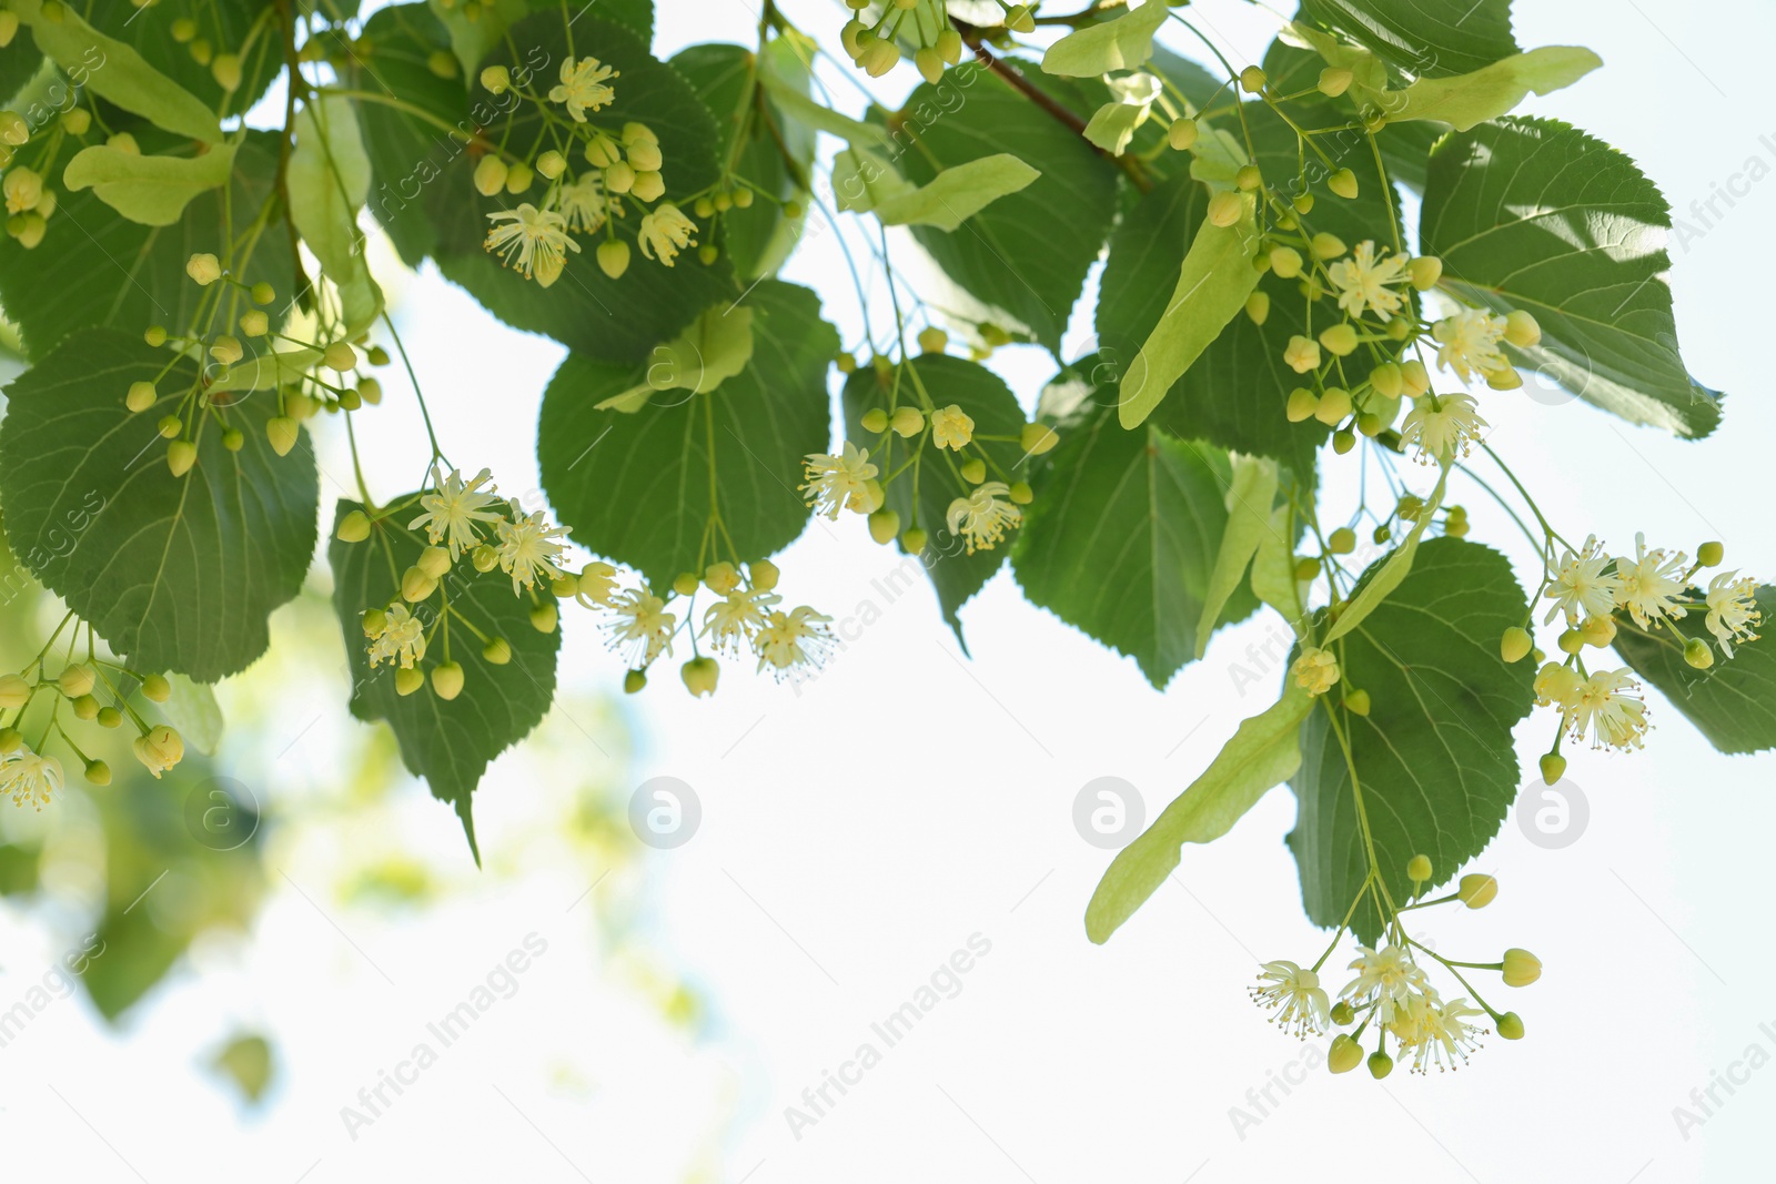
<instances>
[{"instance_id":1,"label":"cream flower and yellow bud cluster against large dark top leaf","mask_svg":"<svg viewBox=\"0 0 1776 1184\"><path fill-rule=\"evenodd\" d=\"M561 279L568 256L581 252L575 236L602 236L595 250L599 268L620 279L629 270L630 247L618 238L614 224L630 209L639 215L636 240L645 257L675 266L678 254L698 243L696 222L678 204L661 201L666 156L654 130L600 115L616 101L620 76L618 69L590 55L565 59L547 92L533 91L531 71L522 67L517 73L506 66L481 71L481 85L490 94L527 101L542 117L542 137L522 156L480 138L471 146L480 156L474 188L483 197L527 195L542 179L536 201L487 215L492 225L485 243L503 264L542 288ZM737 186L694 201L700 215L710 217L718 209L751 206L753 190ZM714 263L716 247L705 245L700 257Z\"/></svg>"}]
</instances>

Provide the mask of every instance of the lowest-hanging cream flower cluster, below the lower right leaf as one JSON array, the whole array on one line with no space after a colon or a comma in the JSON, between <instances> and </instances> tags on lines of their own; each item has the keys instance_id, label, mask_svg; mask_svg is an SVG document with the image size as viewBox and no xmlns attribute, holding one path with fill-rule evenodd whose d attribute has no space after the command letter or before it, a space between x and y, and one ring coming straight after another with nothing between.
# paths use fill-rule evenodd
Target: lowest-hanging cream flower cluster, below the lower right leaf
<instances>
[{"instance_id":1,"label":"lowest-hanging cream flower cluster, below the lower right leaf","mask_svg":"<svg viewBox=\"0 0 1776 1184\"><path fill-rule=\"evenodd\" d=\"M1350 916L1371 900L1389 921L1384 927L1385 943L1357 946L1357 957L1350 962L1353 976L1337 992L1336 1001L1321 985L1320 971L1344 937L1348 918L1312 967L1288 960L1266 962L1259 967L1257 985L1249 991L1252 999L1270 1012L1270 1022L1298 1040L1348 1028L1350 1031L1334 1037L1327 1056L1327 1065L1336 1074L1350 1072L1364 1060L1362 1040L1371 1028L1375 1051L1369 1053L1368 1065L1375 1077L1391 1074L1396 1060L1410 1062L1412 1072L1417 1074L1426 1074L1431 1067L1439 1072L1460 1069L1487 1035L1488 1030L1483 1026L1487 1019L1506 1040L1524 1035L1522 1019L1515 1012L1499 1012L1485 1003L1462 971L1497 971L1506 987L1527 987L1542 976L1540 959L1527 950L1513 948L1497 962L1455 962L1410 937L1399 921L1399 914L1407 909L1453 902L1483 909L1497 896L1499 882L1490 875L1471 873L1463 875L1449 895L1424 900L1424 886L1431 879L1431 861L1426 856L1412 857L1407 877L1414 891L1405 907L1396 909L1375 877L1364 882L1357 900L1352 902ZM1444 998L1431 983L1433 967L1446 969L1467 994ZM1469 996L1474 1003L1469 1003ZM1394 1051L1389 1053L1389 1047Z\"/></svg>"}]
</instances>

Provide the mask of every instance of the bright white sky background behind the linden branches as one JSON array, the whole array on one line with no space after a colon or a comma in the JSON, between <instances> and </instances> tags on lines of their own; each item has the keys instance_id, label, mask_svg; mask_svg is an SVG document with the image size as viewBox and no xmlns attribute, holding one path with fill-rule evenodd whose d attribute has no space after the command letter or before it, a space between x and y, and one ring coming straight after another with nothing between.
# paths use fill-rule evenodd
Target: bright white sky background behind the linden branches
<instances>
[{"instance_id":1,"label":"bright white sky background behind the linden branches","mask_svg":"<svg viewBox=\"0 0 1776 1184\"><path fill-rule=\"evenodd\" d=\"M751 4L662 0L655 53L693 39L749 43ZM1698 378L1733 398L1726 428L1698 446L1581 403L1487 396L1492 442L1563 533L1627 547L1646 531L1687 550L1721 538L1732 566L1769 580L1776 534L1762 493L1776 412L1755 362L1771 332L1755 291L1776 181L1758 181L1732 209L1717 204L1707 225L1689 208L1739 185L1751 160L1758 176L1776 169L1776 108L1758 98L1776 11L1749 0L1517 7L1522 44L1588 44L1607 66L1527 110L1632 154L1705 231L1673 245L1678 328ZM836 4L783 9L826 39L842 20ZM1254 59L1273 27L1238 0L1192 12L1236 62ZM1162 39L1192 53L1176 25ZM897 98L909 76L879 94ZM828 78L856 99L836 71ZM785 279L819 288L858 344L842 268L822 236ZM1090 344L1089 309L1090 293L1071 353ZM535 490L536 399L561 348L499 327L430 268L401 293L401 327L451 454L490 465L508 492ZM1007 350L996 366L1027 405L1051 373L1035 350ZM412 485L423 462L410 399L387 385L371 430L410 444L371 463L382 495ZM330 474L350 472L341 438L323 435L320 451ZM1456 499L1471 508L1472 538L1527 561L1483 493ZM780 557L794 600L836 618L879 611L799 692L730 666L721 694L691 701L662 667L643 696L613 706L620 664L588 618L567 614L574 692L545 726L549 742L497 762L476 795L483 850L499 864L483 875L423 786L353 811L343 786L371 733L345 717L337 639L318 607L281 614L266 667L224 692L231 710L275 706L275 724L227 749L279 815L272 900L245 941L206 943L119 1031L76 998L0 1049L11 1173L1217 1184L1266 1170L1369 1179L1387 1161L1426 1184L1666 1184L1767 1172L1776 1069L1749 1072L1733 1097L1717 1090L1724 1106L1687 1140L1673 1108L1749 1046L1760 1062L1776 1054L1776 1003L1764 989L1776 955L1756 937L1767 930L1756 902L1776 833L1776 758L1712 753L1653 692L1645 753L1572 753L1568 777L1590 802L1575 843L1536 847L1513 817L1476 861L1499 875L1497 904L1424 916L1455 957L1485 960L1504 946L1542 955L1540 983L1492 992L1524 1015L1529 1037L1488 1040L1453 1077L1373 1083L1316 1069L1257 1109L1249 1090L1300 1079L1304 1058L1316 1060L1245 998L1256 962L1320 951L1282 845L1293 797L1279 788L1229 838L1186 850L1177 882L1105 948L1085 941L1082 912L1108 852L1082 841L1071 809L1087 781L1117 776L1138 786L1149 818L1158 813L1241 717L1268 705L1275 678L1240 694L1233 667L1280 628L1277 618L1225 630L1158 694L1133 662L1025 604L1009 573L964 609L964 660L922 580L892 602L874 588L897 561L854 518L817 524ZM1522 735L1526 769L1543 724L1536 715L1524 730L1534 731ZM634 857L552 838L586 802L620 820L629 792L654 776L684 779L702 802L702 829L682 849ZM348 873L389 852L435 868L449 895L417 912L345 900ZM613 859L620 873L600 882ZM55 886L75 905L91 888ZM0 907L0 1010L30 967L78 937L75 905ZM517 994L350 1138L341 1106L529 934L547 953ZM870 1024L971 937L991 950L959 994L796 1138L785 1108L858 1044L883 1047ZM671 1019L686 1014L673 1003L678 983L696 999L686 1022ZM282 1058L259 1109L238 1106L201 1063L242 1022L266 1026ZM1236 1106L1259 1122L1238 1129Z\"/></svg>"}]
</instances>

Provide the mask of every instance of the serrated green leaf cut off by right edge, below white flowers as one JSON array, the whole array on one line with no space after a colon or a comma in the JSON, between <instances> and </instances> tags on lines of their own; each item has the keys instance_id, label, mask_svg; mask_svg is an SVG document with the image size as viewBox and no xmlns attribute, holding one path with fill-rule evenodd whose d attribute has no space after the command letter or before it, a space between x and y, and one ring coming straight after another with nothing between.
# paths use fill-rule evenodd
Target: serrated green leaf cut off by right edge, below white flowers
<instances>
[{"instance_id":1,"label":"serrated green leaf cut off by right edge, below white flowers","mask_svg":"<svg viewBox=\"0 0 1776 1184\"><path fill-rule=\"evenodd\" d=\"M1764 625L1776 625L1776 588L1758 588ZM1616 651L1646 682L1659 687L1709 744L1723 753L1760 753L1776 747L1776 641L1769 637L1733 646L1733 657L1714 655L1714 666L1694 669L1669 632L1648 635L1625 616L1616 618ZM1693 611L1677 621L1685 637L1710 648L1705 614Z\"/></svg>"}]
</instances>

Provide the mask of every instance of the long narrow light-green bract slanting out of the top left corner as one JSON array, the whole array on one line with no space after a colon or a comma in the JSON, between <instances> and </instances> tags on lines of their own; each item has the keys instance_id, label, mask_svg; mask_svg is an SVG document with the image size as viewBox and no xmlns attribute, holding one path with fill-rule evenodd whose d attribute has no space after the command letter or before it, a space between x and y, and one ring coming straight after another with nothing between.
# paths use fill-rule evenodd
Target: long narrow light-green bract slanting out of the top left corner
<instances>
[{"instance_id":1,"label":"long narrow light-green bract slanting out of the top left corner","mask_svg":"<svg viewBox=\"0 0 1776 1184\"><path fill-rule=\"evenodd\" d=\"M123 41L87 25L69 5L59 4L53 20L44 16L43 0L11 0L9 7L30 25L44 57L75 83L167 131L206 144L222 140L222 124L208 105Z\"/></svg>"}]
</instances>

